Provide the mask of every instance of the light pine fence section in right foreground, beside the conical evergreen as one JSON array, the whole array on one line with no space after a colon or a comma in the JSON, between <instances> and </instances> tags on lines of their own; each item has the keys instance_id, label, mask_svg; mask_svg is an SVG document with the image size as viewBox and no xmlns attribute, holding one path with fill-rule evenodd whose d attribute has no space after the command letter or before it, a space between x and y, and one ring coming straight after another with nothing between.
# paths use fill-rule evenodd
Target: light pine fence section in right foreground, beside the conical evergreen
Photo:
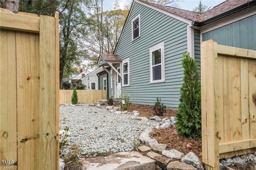
<instances>
[{"instance_id":1,"label":"light pine fence section in right foreground, beside the conical evergreen","mask_svg":"<svg viewBox=\"0 0 256 170\"><path fill-rule=\"evenodd\" d=\"M201 44L202 150L206 169L256 151L256 51Z\"/></svg>"}]
</instances>

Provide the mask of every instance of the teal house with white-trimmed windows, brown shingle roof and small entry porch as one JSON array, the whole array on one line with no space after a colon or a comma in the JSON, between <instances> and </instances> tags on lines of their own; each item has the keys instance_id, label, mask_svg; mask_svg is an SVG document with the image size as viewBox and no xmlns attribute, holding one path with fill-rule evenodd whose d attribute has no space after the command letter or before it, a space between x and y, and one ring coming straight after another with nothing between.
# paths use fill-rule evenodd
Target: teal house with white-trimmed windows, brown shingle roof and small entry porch
<instances>
[{"instance_id":1,"label":"teal house with white-trimmed windows, brown shingle roof and small entry porch","mask_svg":"<svg viewBox=\"0 0 256 170\"><path fill-rule=\"evenodd\" d=\"M99 87L108 96L130 94L132 103L159 97L178 108L183 83L181 56L189 52L200 71L200 43L256 50L256 0L228 0L200 14L134 0L113 55L101 54Z\"/></svg>"}]
</instances>

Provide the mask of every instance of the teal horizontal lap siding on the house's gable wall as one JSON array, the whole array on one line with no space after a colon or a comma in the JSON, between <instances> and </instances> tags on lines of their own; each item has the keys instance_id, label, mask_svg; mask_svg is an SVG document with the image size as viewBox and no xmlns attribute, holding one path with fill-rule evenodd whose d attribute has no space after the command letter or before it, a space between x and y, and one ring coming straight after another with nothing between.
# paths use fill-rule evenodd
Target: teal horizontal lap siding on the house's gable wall
<instances>
[{"instance_id":1,"label":"teal horizontal lap siding on the house's gable wall","mask_svg":"<svg viewBox=\"0 0 256 170\"><path fill-rule=\"evenodd\" d=\"M131 20L140 14L141 35L132 42ZM165 82L150 84L149 48L164 42ZM156 98L170 108L178 108L183 83L181 56L187 52L187 23L147 6L135 3L124 28L116 53L130 59L130 86L122 94L130 94L132 103L152 105Z\"/></svg>"}]
</instances>

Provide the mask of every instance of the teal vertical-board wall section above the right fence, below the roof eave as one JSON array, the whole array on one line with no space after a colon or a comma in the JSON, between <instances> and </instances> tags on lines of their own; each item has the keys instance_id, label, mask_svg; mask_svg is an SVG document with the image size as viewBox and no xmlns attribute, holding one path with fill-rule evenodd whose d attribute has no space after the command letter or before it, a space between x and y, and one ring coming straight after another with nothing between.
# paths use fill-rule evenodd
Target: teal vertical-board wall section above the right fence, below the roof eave
<instances>
[{"instance_id":1,"label":"teal vertical-board wall section above the right fence, below the roof eave","mask_svg":"<svg viewBox=\"0 0 256 170\"><path fill-rule=\"evenodd\" d=\"M221 45L256 50L256 14L203 34Z\"/></svg>"}]
</instances>

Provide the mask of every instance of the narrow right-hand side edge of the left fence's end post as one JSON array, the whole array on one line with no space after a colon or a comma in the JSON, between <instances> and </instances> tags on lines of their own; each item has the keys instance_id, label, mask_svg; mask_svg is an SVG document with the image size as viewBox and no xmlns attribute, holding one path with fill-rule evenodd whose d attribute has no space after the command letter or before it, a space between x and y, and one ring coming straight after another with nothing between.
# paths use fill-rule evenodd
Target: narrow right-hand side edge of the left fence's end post
<instances>
[{"instance_id":1,"label":"narrow right-hand side edge of the left fence's end post","mask_svg":"<svg viewBox=\"0 0 256 170\"><path fill-rule=\"evenodd\" d=\"M56 143L57 143L57 147L56 147L56 154L59 155L60 152L60 136L59 136L59 129L60 129L60 35L59 35L59 12L55 12L55 45L56 45L56 70L55 70L55 74L56 74L56 129L55 129L55 133L56 133ZM56 170L59 170L59 156L56 157Z\"/></svg>"}]
</instances>

